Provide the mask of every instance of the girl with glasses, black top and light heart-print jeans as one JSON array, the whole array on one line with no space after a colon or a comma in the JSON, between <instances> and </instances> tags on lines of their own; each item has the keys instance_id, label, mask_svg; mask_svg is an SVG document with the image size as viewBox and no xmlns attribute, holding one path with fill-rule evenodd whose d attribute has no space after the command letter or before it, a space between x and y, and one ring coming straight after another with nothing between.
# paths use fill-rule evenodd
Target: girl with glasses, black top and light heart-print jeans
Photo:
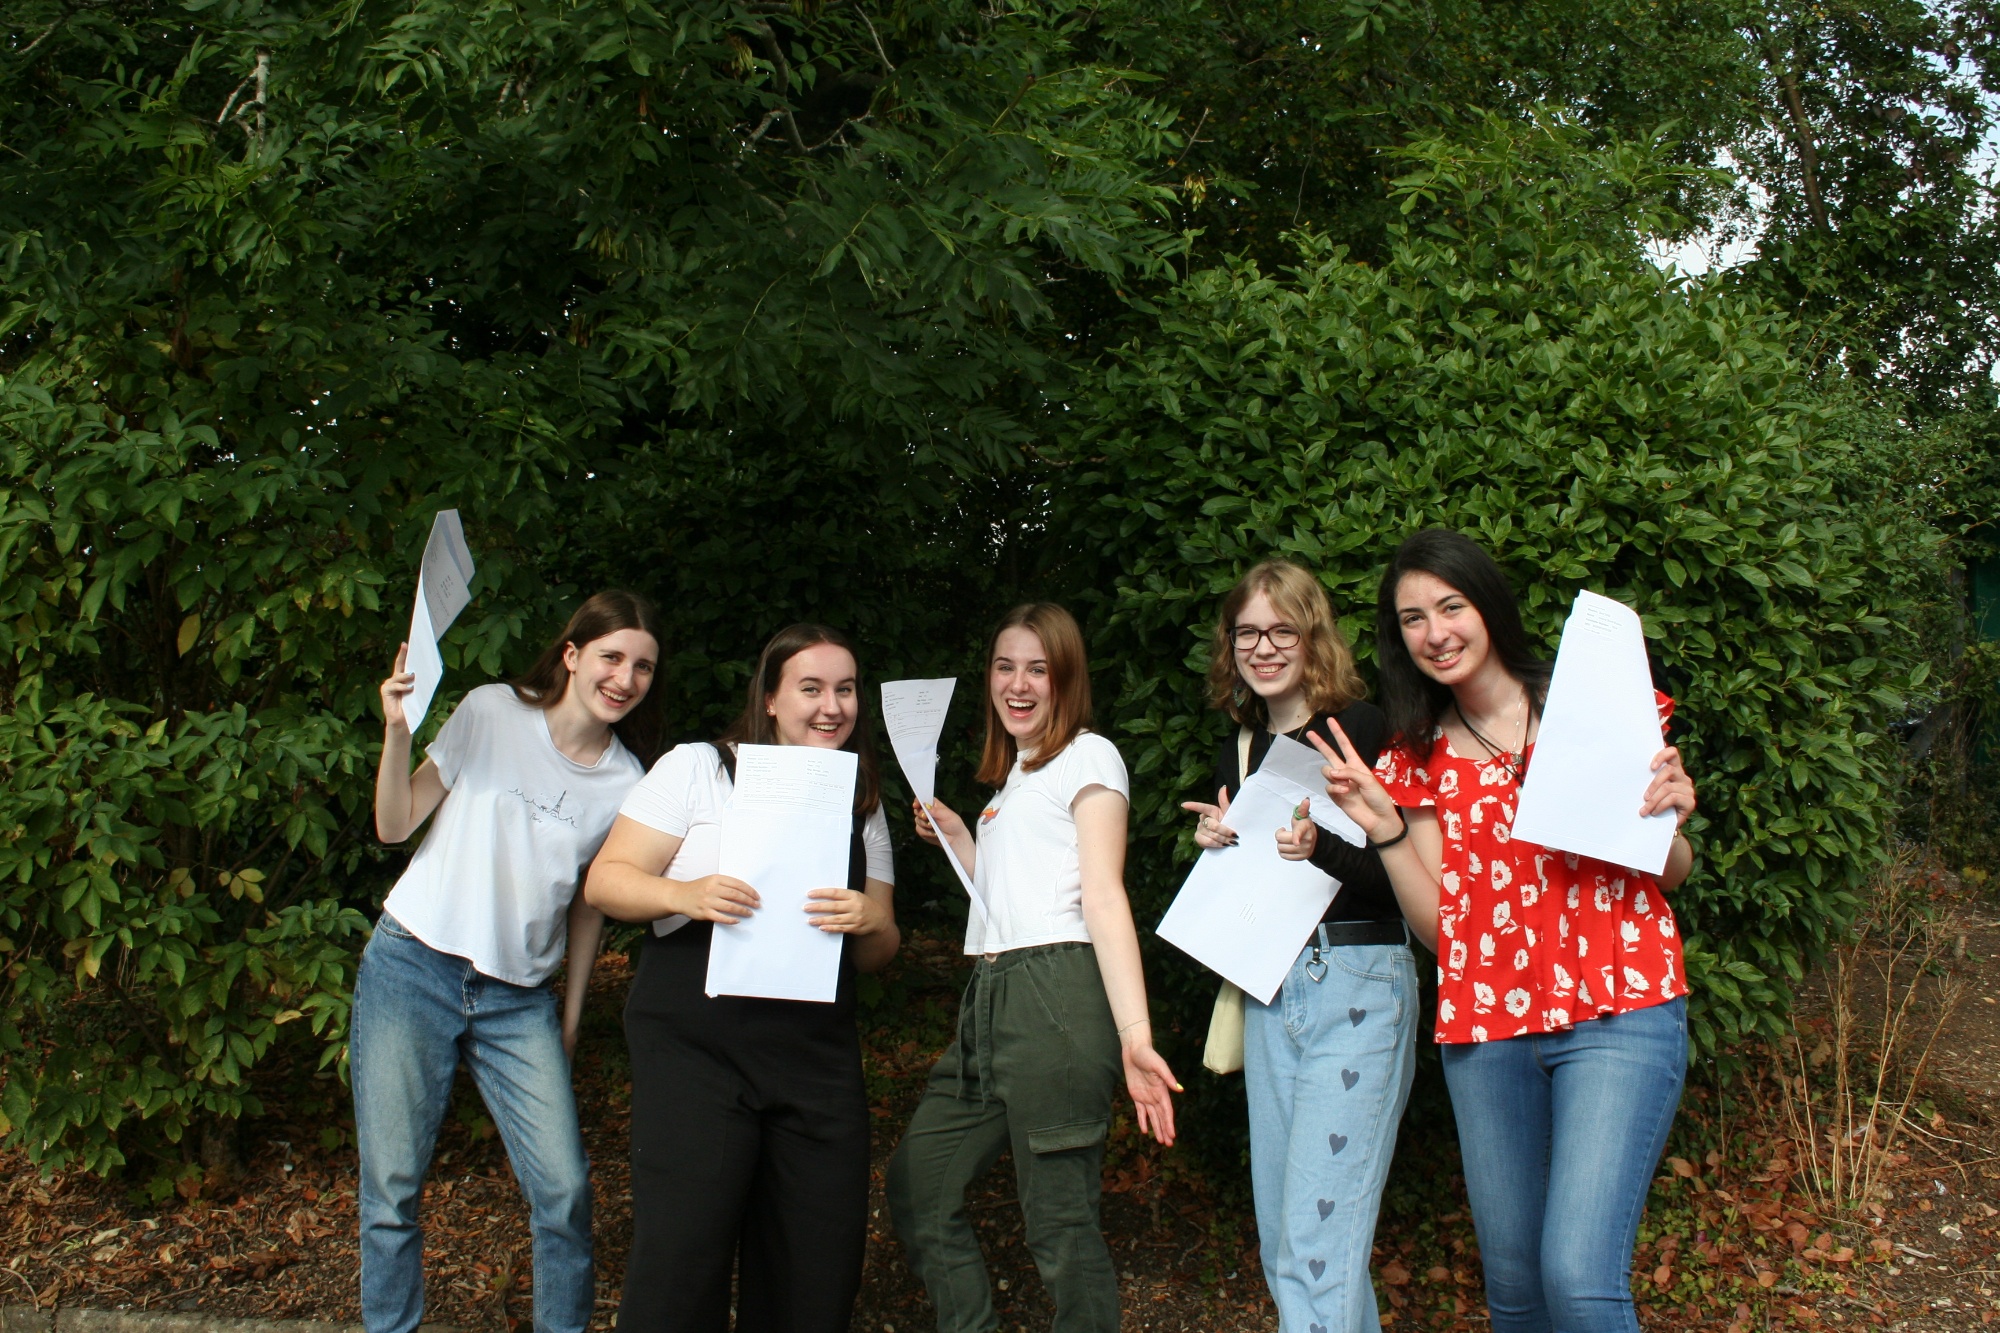
<instances>
[{"instance_id":1,"label":"girl with glasses, black top and light heart-print jeans","mask_svg":"<svg viewBox=\"0 0 2000 1333\"><path fill-rule=\"evenodd\" d=\"M1368 1257L1416 1073L1416 961L1402 909L1374 851L1322 833L1304 811L1290 829L1232 829L1230 793L1272 737L1382 749L1382 713L1362 699L1354 652L1318 578L1286 560L1252 568L1222 598L1208 658L1210 701L1236 723L1216 749L1214 805L1188 801L1194 841L1276 837L1340 883L1270 1005L1244 999L1250 1181L1264 1281L1284 1333L1380 1327Z\"/></svg>"}]
</instances>

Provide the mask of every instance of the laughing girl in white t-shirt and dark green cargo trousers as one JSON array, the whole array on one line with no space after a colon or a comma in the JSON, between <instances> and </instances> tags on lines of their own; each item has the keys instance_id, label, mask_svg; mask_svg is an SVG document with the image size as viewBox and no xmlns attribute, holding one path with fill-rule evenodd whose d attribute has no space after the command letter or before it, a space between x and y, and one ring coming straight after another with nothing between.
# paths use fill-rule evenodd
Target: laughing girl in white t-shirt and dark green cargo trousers
<instances>
[{"instance_id":1,"label":"laughing girl in white t-shirt and dark green cargo trousers","mask_svg":"<svg viewBox=\"0 0 2000 1333\"><path fill-rule=\"evenodd\" d=\"M986 753L1000 793L966 821L934 803L916 831L950 839L978 903L978 959L954 1041L888 1167L888 1205L940 1333L992 1333L966 1187L1012 1149L1028 1253L1052 1333L1116 1333L1118 1273L1098 1225L1104 1133L1120 1073L1138 1125L1174 1141L1180 1085L1152 1049L1138 931L1124 893L1130 783L1088 731L1084 636L1062 606L1016 606L986 654ZM1170 1091L1172 1089L1172 1091Z\"/></svg>"}]
</instances>

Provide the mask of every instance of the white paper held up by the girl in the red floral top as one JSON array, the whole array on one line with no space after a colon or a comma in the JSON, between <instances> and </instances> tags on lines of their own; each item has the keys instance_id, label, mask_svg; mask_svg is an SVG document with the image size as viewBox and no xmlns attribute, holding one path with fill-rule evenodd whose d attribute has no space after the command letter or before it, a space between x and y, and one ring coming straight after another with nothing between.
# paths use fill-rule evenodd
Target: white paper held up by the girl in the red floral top
<instances>
[{"instance_id":1,"label":"white paper held up by the girl in the red floral top","mask_svg":"<svg viewBox=\"0 0 2000 1333\"><path fill-rule=\"evenodd\" d=\"M1638 612L1578 592L1562 626L1514 837L1658 875L1674 845L1674 813L1640 817L1638 807L1662 745Z\"/></svg>"}]
</instances>

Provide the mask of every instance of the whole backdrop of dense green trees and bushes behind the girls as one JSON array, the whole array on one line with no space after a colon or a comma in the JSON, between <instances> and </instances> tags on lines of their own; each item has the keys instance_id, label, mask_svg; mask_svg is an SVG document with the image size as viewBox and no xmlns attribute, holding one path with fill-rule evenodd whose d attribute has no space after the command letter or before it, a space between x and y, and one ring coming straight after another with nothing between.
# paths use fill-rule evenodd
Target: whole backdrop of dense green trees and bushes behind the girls
<instances>
[{"instance_id":1,"label":"whole backdrop of dense green trees and bushes behind the girls","mask_svg":"<svg viewBox=\"0 0 2000 1333\"><path fill-rule=\"evenodd\" d=\"M374 685L448 504L480 576L438 715L610 582L668 606L680 735L790 618L880 679L968 671L1024 594L1092 608L1150 907L1236 566L1354 604L1408 524L1478 530L1538 630L1588 584L1658 632L1726 775L1706 1031L1752 1027L1878 845L1910 522L1992 520L1990 28L0 0L0 1135L172 1163L274 1055L338 1067L400 865ZM1638 248L1732 218L1766 238L1732 278Z\"/></svg>"}]
</instances>

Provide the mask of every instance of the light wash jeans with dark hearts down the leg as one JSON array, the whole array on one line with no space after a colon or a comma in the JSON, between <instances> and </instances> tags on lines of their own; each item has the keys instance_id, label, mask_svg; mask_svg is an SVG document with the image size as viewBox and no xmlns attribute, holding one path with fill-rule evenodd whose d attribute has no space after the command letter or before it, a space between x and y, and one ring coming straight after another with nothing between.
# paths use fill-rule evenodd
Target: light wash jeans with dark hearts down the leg
<instances>
[{"instance_id":1,"label":"light wash jeans with dark hearts down the leg","mask_svg":"<svg viewBox=\"0 0 2000 1333\"><path fill-rule=\"evenodd\" d=\"M1280 1333L1374 1333L1368 1257L1416 1077L1416 963L1408 945L1318 961L1314 945L1270 1005L1244 999L1258 1245Z\"/></svg>"}]
</instances>

